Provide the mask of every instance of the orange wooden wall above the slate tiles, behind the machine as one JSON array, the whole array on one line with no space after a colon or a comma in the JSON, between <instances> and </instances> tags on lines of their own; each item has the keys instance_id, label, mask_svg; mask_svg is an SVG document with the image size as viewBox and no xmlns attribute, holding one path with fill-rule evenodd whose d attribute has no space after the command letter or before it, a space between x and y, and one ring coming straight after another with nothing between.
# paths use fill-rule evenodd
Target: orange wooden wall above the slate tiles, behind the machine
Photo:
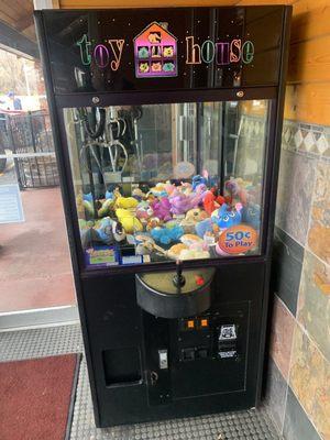
<instances>
[{"instance_id":1,"label":"orange wooden wall above the slate tiles, behind the machine","mask_svg":"<svg viewBox=\"0 0 330 440\"><path fill-rule=\"evenodd\" d=\"M293 4L285 117L330 125L329 0L158 0L157 7ZM59 0L63 9L150 7L150 0Z\"/></svg>"}]
</instances>

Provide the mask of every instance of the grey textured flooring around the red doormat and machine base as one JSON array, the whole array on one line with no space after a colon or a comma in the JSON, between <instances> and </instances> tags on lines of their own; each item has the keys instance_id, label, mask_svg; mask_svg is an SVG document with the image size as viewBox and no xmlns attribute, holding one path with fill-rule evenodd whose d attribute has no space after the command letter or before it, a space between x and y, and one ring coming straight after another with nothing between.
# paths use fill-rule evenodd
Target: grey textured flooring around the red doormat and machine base
<instances>
[{"instance_id":1,"label":"grey textured flooring around the red doormat and machine base","mask_svg":"<svg viewBox=\"0 0 330 440\"><path fill-rule=\"evenodd\" d=\"M0 333L0 362L81 352L79 326ZM72 440L279 440L264 410L226 413L109 429L94 426L85 360L77 387Z\"/></svg>"}]
</instances>

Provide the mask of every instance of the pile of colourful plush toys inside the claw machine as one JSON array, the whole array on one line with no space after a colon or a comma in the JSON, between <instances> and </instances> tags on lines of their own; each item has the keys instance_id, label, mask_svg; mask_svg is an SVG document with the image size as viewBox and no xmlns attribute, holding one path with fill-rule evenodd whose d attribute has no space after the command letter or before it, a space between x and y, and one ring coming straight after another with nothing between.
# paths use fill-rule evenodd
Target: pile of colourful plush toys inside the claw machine
<instances>
[{"instance_id":1,"label":"pile of colourful plush toys inside the claw machine","mask_svg":"<svg viewBox=\"0 0 330 440\"><path fill-rule=\"evenodd\" d=\"M82 245L129 242L136 254L156 253L173 260L207 258L212 252L222 255L217 243L224 230L241 223L258 230L257 191L249 182L231 178L221 196L208 178L198 175L179 185L136 186L130 197L123 197L119 187L109 187L99 200L80 194L77 211Z\"/></svg>"}]
</instances>

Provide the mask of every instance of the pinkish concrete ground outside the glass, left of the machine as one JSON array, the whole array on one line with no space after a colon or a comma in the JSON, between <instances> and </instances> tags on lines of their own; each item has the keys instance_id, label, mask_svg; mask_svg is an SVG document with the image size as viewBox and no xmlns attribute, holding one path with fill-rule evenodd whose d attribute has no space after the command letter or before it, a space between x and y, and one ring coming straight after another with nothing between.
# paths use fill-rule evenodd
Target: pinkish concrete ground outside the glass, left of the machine
<instances>
[{"instance_id":1,"label":"pinkish concrete ground outside the glass, left of the machine","mask_svg":"<svg viewBox=\"0 0 330 440\"><path fill-rule=\"evenodd\" d=\"M0 312L74 305L61 190L21 196L25 221L0 227Z\"/></svg>"}]
</instances>

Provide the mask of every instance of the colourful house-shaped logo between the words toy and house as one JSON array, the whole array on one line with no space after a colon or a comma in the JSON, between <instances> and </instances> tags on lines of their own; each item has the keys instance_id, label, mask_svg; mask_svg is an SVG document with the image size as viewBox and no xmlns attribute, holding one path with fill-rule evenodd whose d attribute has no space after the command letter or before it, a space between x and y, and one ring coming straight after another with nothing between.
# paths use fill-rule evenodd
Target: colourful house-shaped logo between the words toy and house
<instances>
[{"instance_id":1,"label":"colourful house-shaped logo between the words toy and house","mask_svg":"<svg viewBox=\"0 0 330 440\"><path fill-rule=\"evenodd\" d=\"M148 24L134 38L136 78L177 76L177 38L160 23Z\"/></svg>"}]
</instances>

